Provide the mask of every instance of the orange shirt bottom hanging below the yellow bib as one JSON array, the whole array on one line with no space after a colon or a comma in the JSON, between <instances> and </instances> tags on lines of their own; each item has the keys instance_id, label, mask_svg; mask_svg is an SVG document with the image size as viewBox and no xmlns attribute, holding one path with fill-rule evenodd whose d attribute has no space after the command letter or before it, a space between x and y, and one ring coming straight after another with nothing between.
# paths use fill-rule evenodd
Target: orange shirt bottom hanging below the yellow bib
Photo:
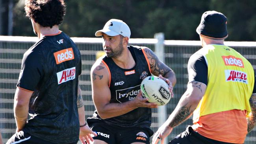
<instances>
[{"instance_id":1,"label":"orange shirt bottom hanging below the yellow bib","mask_svg":"<svg viewBox=\"0 0 256 144\"><path fill-rule=\"evenodd\" d=\"M192 127L204 137L243 144L247 135L246 111L233 109L200 116Z\"/></svg>"}]
</instances>

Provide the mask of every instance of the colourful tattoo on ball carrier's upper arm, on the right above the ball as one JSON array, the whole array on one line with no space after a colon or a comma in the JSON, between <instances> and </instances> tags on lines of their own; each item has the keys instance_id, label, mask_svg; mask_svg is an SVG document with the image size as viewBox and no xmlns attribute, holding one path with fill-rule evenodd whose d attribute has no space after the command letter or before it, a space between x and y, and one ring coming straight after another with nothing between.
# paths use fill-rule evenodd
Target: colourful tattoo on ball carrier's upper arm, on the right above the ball
<instances>
[{"instance_id":1,"label":"colourful tattoo on ball carrier's upper arm, on the right above the ball","mask_svg":"<svg viewBox=\"0 0 256 144\"><path fill-rule=\"evenodd\" d=\"M162 76L164 76L165 74L167 74L167 72L171 70L168 66L166 66L158 59L154 52L148 49L145 49L145 52L147 53L147 58L150 63L150 69L154 75L158 76L161 74Z\"/></svg>"}]
</instances>

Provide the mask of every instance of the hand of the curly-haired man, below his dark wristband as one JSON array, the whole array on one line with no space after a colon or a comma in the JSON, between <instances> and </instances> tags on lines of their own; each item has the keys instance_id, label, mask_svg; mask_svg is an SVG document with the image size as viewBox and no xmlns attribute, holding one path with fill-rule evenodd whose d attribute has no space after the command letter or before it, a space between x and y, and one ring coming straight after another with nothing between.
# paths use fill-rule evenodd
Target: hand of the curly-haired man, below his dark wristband
<instances>
[{"instance_id":1,"label":"hand of the curly-haired man, below his dark wristband","mask_svg":"<svg viewBox=\"0 0 256 144\"><path fill-rule=\"evenodd\" d=\"M93 134L95 137L97 136L97 134L93 132L89 126L80 127L79 139L83 144L90 144L90 141L93 142L93 137L91 134Z\"/></svg>"}]
</instances>

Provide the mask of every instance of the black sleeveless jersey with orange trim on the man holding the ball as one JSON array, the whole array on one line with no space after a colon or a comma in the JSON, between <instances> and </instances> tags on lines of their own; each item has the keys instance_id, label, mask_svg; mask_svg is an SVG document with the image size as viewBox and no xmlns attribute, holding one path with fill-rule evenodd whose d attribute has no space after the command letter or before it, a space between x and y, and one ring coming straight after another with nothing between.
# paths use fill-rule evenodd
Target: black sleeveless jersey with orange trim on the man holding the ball
<instances>
[{"instance_id":1,"label":"black sleeveless jersey with orange trim on the man holding the ball","mask_svg":"<svg viewBox=\"0 0 256 144\"><path fill-rule=\"evenodd\" d=\"M128 46L128 49L135 60L135 66L131 69L120 68L109 57L105 56L102 59L106 66L108 66L111 74L109 85L111 92L110 103L123 103L134 100L140 91L140 85L143 78L151 76L150 66L143 50L138 46L131 45ZM101 119L96 111L94 116ZM107 118L102 121L120 127L150 127L151 109L147 107L139 107L121 116Z\"/></svg>"}]
</instances>

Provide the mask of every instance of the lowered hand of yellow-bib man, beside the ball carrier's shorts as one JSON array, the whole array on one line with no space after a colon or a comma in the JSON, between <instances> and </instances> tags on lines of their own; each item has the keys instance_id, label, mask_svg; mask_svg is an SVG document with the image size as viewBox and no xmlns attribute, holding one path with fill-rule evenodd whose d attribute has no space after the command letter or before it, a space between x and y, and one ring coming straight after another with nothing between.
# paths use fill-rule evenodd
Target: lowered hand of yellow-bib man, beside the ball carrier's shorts
<instances>
[{"instance_id":1,"label":"lowered hand of yellow-bib man, beside the ball carrier's shorts","mask_svg":"<svg viewBox=\"0 0 256 144\"><path fill-rule=\"evenodd\" d=\"M164 144L164 139L173 131L173 128L168 126L168 124L163 124L156 131L152 138L152 144L158 144L159 140L161 140L161 144Z\"/></svg>"}]
</instances>

